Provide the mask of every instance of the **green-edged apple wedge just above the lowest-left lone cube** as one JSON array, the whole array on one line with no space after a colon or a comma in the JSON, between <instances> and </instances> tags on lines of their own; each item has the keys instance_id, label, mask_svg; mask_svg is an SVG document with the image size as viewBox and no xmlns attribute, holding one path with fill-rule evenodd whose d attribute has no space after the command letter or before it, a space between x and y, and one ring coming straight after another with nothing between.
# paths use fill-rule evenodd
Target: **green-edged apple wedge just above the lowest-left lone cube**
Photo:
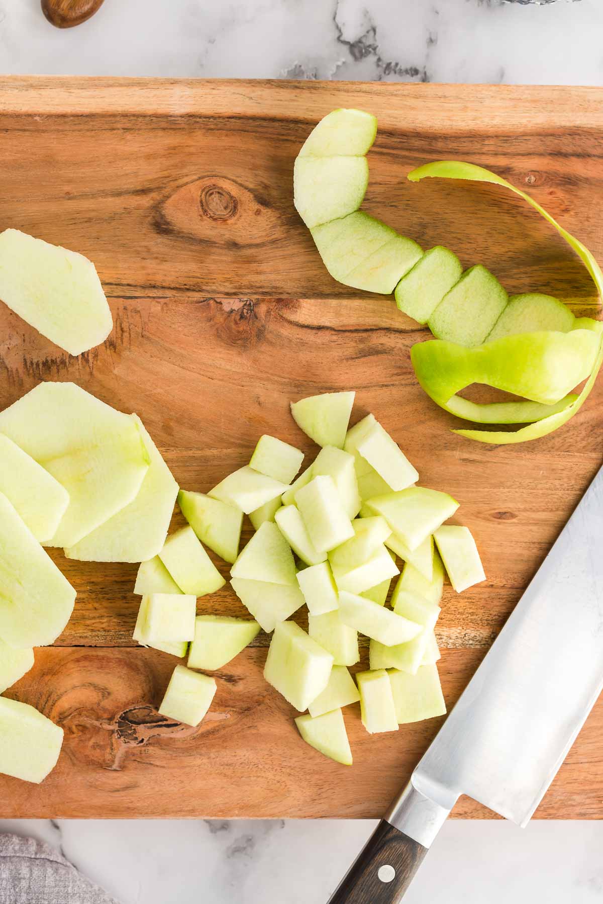
<instances>
[{"instance_id":1,"label":"green-edged apple wedge just above the lowest-left lone cube","mask_svg":"<svg viewBox=\"0 0 603 904\"><path fill-rule=\"evenodd\" d=\"M197 616L188 654L190 669L221 669L259 633L257 621L227 616Z\"/></svg>"}]
</instances>

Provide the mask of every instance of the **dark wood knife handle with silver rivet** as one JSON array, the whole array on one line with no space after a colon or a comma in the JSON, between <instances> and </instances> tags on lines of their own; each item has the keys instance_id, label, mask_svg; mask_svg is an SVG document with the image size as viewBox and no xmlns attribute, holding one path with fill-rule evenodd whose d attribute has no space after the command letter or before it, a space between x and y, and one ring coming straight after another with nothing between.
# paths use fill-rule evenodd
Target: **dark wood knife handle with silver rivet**
<instances>
[{"instance_id":1,"label":"dark wood knife handle with silver rivet","mask_svg":"<svg viewBox=\"0 0 603 904\"><path fill-rule=\"evenodd\" d=\"M329 904L396 904L427 852L382 819Z\"/></svg>"}]
</instances>

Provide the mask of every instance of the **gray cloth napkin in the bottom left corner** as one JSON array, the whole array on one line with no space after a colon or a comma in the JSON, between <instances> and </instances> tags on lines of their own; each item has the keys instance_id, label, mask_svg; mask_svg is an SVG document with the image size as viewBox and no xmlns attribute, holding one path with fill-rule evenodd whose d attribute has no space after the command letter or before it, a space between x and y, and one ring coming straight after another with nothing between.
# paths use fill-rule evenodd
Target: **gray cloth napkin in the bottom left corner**
<instances>
[{"instance_id":1,"label":"gray cloth napkin in the bottom left corner","mask_svg":"<svg viewBox=\"0 0 603 904\"><path fill-rule=\"evenodd\" d=\"M118 904L48 844L0 834L0 904Z\"/></svg>"}]
</instances>

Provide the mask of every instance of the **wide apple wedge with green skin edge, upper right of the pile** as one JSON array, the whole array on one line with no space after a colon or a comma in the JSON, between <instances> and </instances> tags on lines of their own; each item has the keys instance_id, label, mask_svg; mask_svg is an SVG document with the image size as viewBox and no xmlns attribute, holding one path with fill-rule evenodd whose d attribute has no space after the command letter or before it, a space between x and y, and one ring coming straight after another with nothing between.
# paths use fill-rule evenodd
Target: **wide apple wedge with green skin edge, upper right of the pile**
<instances>
[{"instance_id":1,"label":"wide apple wedge with green skin edge, upper right of the pile","mask_svg":"<svg viewBox=\"0 0 603 904\"><path fill-rule=\"evenodd\" d=\"M448 493L410 486L398 493L375 496L366 506L370 512L382 514L412 551L457 511L458 503Z\"/></svg>"}]
</instances>

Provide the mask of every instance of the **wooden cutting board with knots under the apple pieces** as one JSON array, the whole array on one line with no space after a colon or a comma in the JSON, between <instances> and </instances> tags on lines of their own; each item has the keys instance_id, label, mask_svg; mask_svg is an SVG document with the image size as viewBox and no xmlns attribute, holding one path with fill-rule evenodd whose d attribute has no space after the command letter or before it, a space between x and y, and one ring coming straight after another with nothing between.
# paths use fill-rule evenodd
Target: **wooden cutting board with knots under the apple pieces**
<instances>
[{"instance_id":1,"label":"wooden cutting board with knots under the apple pieces","mask_svg":"<svg viewBox=\"0 0 603 904\"><path fill-rule=\"evenodd\" d=\"M355 389L354 417L372 410L421 482L457 497L483 555L485 584L461 597L445 589L450 706L601 463L603 381L570 426L538 442L490 447L449 432L458 422L410 366L425 332L391 298L335 283L293 208L297 150L342 106L379 117L369 212L425 248L448 245L465 266L484 263L511 292L542 290L598 315L579 260L519 199L405 177L441 157L492 167L602 259L600 89L4 79L0 229L93 259L115 329L70 358L0 306L0 406L38 381L75 381L137 411L179 484L208 490L261 433L314 455L289 400ZM42 786L0 777L3 817L377 817L438 730L430 720L370 737L351 707L353 767L321 757L263 682L266 636L219 673L199 728L163 719L155 707L175 661L132 643L136 566L54 558L78 590L73 617L8 693L60 722L65 745ZM228 588L199 610L243 612ZM455 815L492 814L462 799ZM601 702L537 815L603 816Z\"/></svg>"}]
</instances>

